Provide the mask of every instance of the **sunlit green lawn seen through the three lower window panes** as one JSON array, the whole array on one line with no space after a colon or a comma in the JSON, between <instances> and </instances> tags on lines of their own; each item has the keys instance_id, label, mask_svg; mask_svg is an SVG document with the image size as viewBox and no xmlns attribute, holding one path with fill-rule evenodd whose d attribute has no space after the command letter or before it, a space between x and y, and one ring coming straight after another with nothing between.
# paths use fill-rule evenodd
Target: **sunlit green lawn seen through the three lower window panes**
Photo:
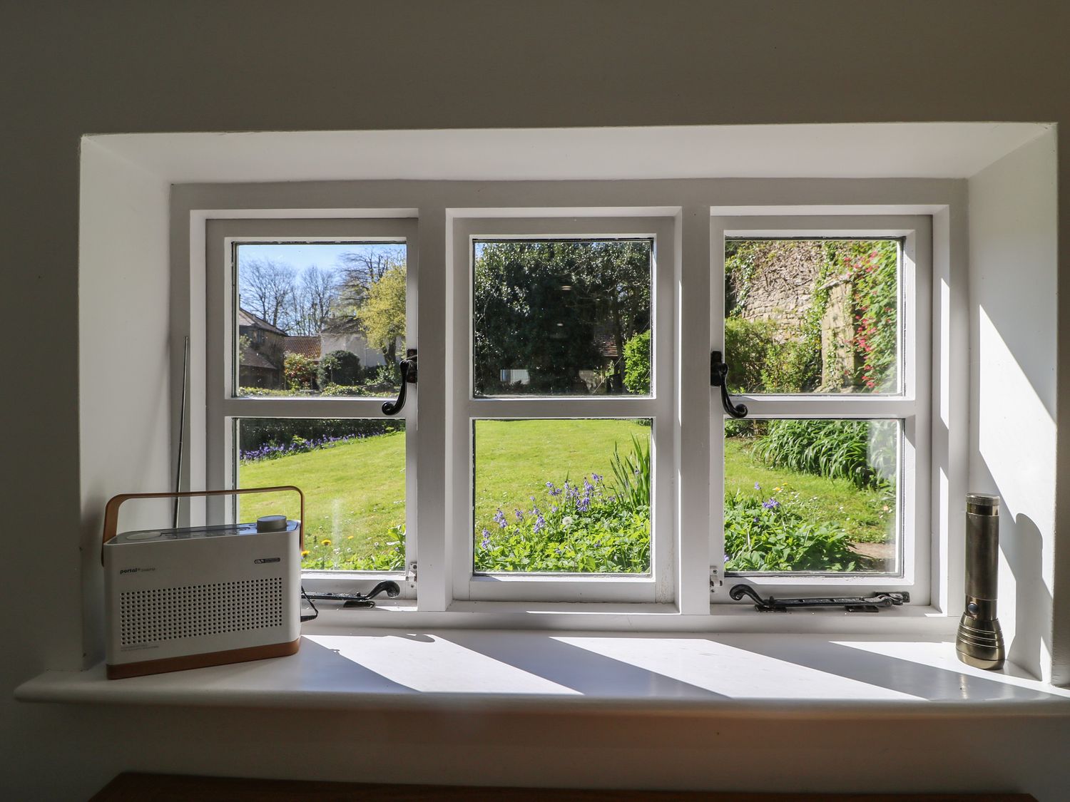
<instances>
[{"instance_id":1,"label":"sunlit green lawn seen through the three lower window panes","mask_svg":"<svg viewBox=\"0 0 1070 802\"><path fill-rule=\"evenodd\" d=\"M530 510L531 496L547 505L548 481L582 483L597 473L612 481L613 445L622 456L631 435L644 442L651 429L633 420L482 420L476 426L476 528L501 507ZM773 469L750 457L750 442L725 443L725 493L808 500L815 516L843 526L852 540L883 542L892 509L875 491L844 480ZM754 483L761 490L754 489ZM240 466L240 485L296 484L305 492L306 565L345 567L347 558L385 550L389 527L404 522L404 434L395 432ZM779 490L778 490L779 488ZM794 496L793 494L798 494ZM241 519L285 513L297 516L289 495L241 502ZM328 542L324 542L328 541Z\"/></svg>"}]
</instances>

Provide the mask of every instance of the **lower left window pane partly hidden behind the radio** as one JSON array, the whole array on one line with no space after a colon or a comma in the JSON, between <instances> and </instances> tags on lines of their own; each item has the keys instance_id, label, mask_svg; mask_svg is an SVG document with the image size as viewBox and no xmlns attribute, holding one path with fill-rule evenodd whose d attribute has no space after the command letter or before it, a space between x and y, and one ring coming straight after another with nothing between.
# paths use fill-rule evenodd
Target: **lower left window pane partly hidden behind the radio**
<instances>
[{"instance_id":1,"label":"lower left window pane partly hidden behind the radio","mask_svg":"<svg viewBox=\"0 0 1070 802\"><path fill-rule=\"evenodd\" d=\"M404 567L404 421L242 418L235 421L240 488L295 484L305 494L310 569ZM240 521L299 518L293 494L239 496Z\"/></svg>"}]
</instances>

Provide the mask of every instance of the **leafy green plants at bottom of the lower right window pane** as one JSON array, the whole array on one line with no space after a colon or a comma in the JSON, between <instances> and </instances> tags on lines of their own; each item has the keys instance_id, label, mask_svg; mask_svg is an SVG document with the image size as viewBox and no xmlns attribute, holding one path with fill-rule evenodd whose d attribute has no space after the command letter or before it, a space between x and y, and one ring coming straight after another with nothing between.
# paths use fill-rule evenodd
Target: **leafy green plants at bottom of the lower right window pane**
<instances>
[{"instance_id":1,"label":"leafy green plants at bottom of the lower right window pane","mask_svg":"<svg viewBox=\"0 0 1070 802\"><path fill-rule=\"evenodd\" d=\"M805 506L736 492L724 503L725 571L853 571L847 534Z\"/></svg>"}]
</instances>

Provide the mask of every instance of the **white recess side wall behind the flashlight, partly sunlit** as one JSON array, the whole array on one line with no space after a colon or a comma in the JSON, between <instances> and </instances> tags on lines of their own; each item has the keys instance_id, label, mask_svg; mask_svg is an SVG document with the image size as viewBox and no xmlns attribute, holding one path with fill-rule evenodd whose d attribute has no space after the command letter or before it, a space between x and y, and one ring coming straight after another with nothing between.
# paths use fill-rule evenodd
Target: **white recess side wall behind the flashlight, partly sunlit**
<instances>
[{"instance_id":1,"label":"white recess side wall behind the flashlight, partly sunlit","mask_svg":"<svg viewBox=\"0 0 1070 802\"><path fill-rule=\"evenodd\" d=\"M1055 592L1055 154L1051 133L968 182L969 488L1003 498L999 620L1011 660L1044 679Z\"/></svg>"}]
</instances>

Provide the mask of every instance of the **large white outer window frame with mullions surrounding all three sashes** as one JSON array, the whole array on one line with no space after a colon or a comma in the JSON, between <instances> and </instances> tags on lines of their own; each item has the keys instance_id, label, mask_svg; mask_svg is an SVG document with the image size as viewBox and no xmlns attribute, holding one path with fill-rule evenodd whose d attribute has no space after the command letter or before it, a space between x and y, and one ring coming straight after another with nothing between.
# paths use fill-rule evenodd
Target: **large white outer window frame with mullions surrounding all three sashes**
<instances>
[{"instance_id":1,"label":"large white outer window frame with mullions surrounding all three sashes","mask_svg":"<svg viewBox=\"0 0 1070 802\"><path fill-rule=\"evenodd\" d=\"M781 205L790 199L786 205ZM869 205L860 205L859 199L869 199ZM727 205L730 201L743 201L740 205ZM505 202L503 204L503 201ZM506 205L509 204L509 205ZM966 235L964 196L958 182L893 182L882 179L865 182L837 180L819 181L807 179L783 180L666 180L657 182L323 182L301 185L225 185L199 184L175 187L172 190L172 244L175 265L175 287L180 290L173 304L175 333L181 342L183 330L189 333L193 345L193 373L190 385L189 428L186 448L189 454L188 472L185 473L186 487L217 487L215 481L221 476L213 465L220 462L217 448L221 442L217 436L224 431L213 422L221 413L213 410L212 394L207 391L205 366L213 358L213 348L219 340L223 324L216 325L212 315L205 312L205 305L198 298L204 297L205 283L214 280L214 272L220 263L218 251L213 256L209 229L214 222L229 225L232 220L247 220L249 226L262 226L259 234L271 240L279 237L279 221L292 222L295 227L307 227L309 221L318 221L322 229L311 231L311 238L339 236L343 240L367 241L374 238L374 231L382 232L381 222L396 220L410 227L407 241L410 253L410 300L416 297L416 287L422 290L426 303L409 307L410 345L416 340L416 321L428 336L423 339L421 353L421 383L412 399L414 405L403 417L407 420L407 518L410 547L418 543L419 591L416 592L415 574L402 584L402 600L396 603L380 603L383 610L404 612L403 626L458 626L458 627L534 627L571 628L584 627L600 630L651 629L651 630L709 630L709 631L779 631L786 627L791 631L840 631L857 628L851 621L857 617L844 618L842 614L810 614L806 617L754 616L749 604L728 602L729 584L721 573L722 552L716 546L715 530L720 529L722 514L723 480L721 477L723 444L719 427L720 400L716 388L708 386L709 351L722 350L723 338L721 317L723 309L723 230L745 232L745 218L761 216L767 218L769 233L781 234L792 218L797 218L798 227L812 231L822 216L836 216L858 222L862 215L881 215L887 219L902 216L920 216L915 222L904 223L897 232L919 232L918 248L928 256L932 248L932 283L921 281L917 291L932 293L932 327L926 326L926 341L931 342L932 354L932 414L939 411L939 419L933 421L931 462L923 468L931 472L931 488L920 488L916 497L929 514L929 528L919 531L918 537L928 539L924 554L916 556L912 586L913 598L908 607L897 608L895 615L866 617L868 631L896 632L944 632L952 627L961 613L962 549L964 531L961 525L961 510L958 499L964 492L961 477L966 462L967 426L965 422L966 389L957 379L962 376L965 364L966 305ZM666 595L654 593L653 603L647 591L636 592L626 589L632 577L621 583L625 589L601 596L585 592L574 596L557 591L565 589L554 583L559 580L541 577L516 577L514 582L495 583L494 598L472 593L472 577L465 559L471 549L472 530L468 515L471 507L471 490L468 485L469 467L457 471L457 446L460 444L468 453L471 441L470 429L460 432L457 422L464 420L468 412L461 412L459 388L464 395L464 405L474 403L471 399L469 356L464 350L463 359L457 363L455 352L459 340L467 346L469 337L468 315L458 315L457 271L469 269L469 252L462 253L455 242L455 221L468 219L505 219L510 227L520 220L551 221L539 233L565 232L588 236L592 232L611 229L599 222L612 219L623 220L623 229L628 233L644 231L636 218L657 218L669 226L659 258L659 269L666 267L664 246L671 244L674 253L672 264L672 320L671 338L674 353L672 391L672 443L673 459L666 473L656 466L658 481L674 484L671 509L673 514L672 537L673 565L671 585L664 583ZM582 226L569 229L566 221L580 218ZM721 237L715 235L715 225L719 219L727 221L721 227ZM932 221L932 235L928 242L920 234ZM350 222L355 228L346 228ZM482 225L482 223L480 223ZM606 223L608 225L608 223ZM364 228L369 226L371 228ZM540 223L541 226L541 223ZM377 227L379 227L377 229ZM477 226L478 227L478 226ZM326 231L334 233L321 233ZM514 229L516 230L516 229ZM649 229L646 228L646 231ZM668 231L671 230L671 235ZM758 231L760 229L752 229ZM842 227L837 229L846 233ZM867 228L869 235L880 230ZM258 232L250 229L250 235ZM370 232L370 233L369 233ZM534 233L534 232L533 232ZM898 234L897 234L898 235ZM296 234L294 234L296 236ZM397 237L387 234L387 240ZM416 248L424 269L417 278ZM188 248L188 249L187 249ZM919 256L920 258L920 256ZM213 263L214 260L214 263ZM183 299L184 287L188 288L188 298ZM656 290L657 292L657 290ZM669 297L661 295L662 298ZM208 320L205 320L205 315ZM463 321L463 325L461 323ZM920 331L920 329L919 329ZM460 333L460 334L459 334ZM461 334L463 337L461 337ZM662 339L663 342L663 339ZM920 341L916 344L922 348ZM174 352L181 366L181 352ZM449 359L454 364L449 365ZM457 365L464 366L464 375L456 375ZM448 368L448 369L447 369ZM461 379L463 381L461 381ZM434 388L444 388L442 392ZM413 389L410 386L410 391ZM920 391L920 390L919 390ZM430 395L428 395L430 392ZM423 394L423 402L418 398ZM580 403L586 399L568 400ZM597 400L597 399L596 399ZM622 399L642 401L643 399ZM238 399L225 399L233 405ZM255 399L253 412L243 415L263 416L273 403L285 399ZM348 402L348 400L338 400ZM483 401L483 399L480 399ZM761 399L747 401L758 412ZM335 400L308 399L311 404L331 404ZM367 403L377 402L368 400ZM423 413L418 411L423 406ZM221 407L220 407L221 408ZM319 408L319 407L312 407ZM326 408L324 406L323 408ZM587 407L580 407L587 414ZM622 407L623 408L623 407ZM264 411L264 412L261 412ZM567 413L567 414L566 414ZM274 410L272 410L272 414ZM296 407L291 416L304 416ZM345 417L346 413L331 411L331 415ZM575 413L563 411L559 417L571 417ZM628 411L622 416L631 416ZM175 411L177 415L177 411ZM363 414L349 413L353 417ZM616 412L612 413L617 416ZM233 416L231 416L233 417ZM416 418L419 418L418 422ZM175 418L177 419L177 418ZM412 437L419 431L419 436ZM924 427L920 427L924 429ZM928 432L922 432L926 434ZM458 439L458 437L462 437ZM664 449L663 434L659 437L659 449ZM415 457L413 456L415 451ZM664 450L661 454L664 456ZM468 453L470 457L470 453ZM921 459L921 452L918 452ZM200 467L199 467L200 466ZM207 468L205 468L207 466ZM421 474L416 476L416 468ZM667 478L668 476L668 478ZM458 484L463 478L464 485ZM417 493L418 487L423 492ZM931 492L931 495L929 495ZM929 504L924 504L926 500ZM463 508L462 525L458 525L460 505ZM660 507L664 509L662 504ZM923 515L916 515L923 521ZM214 516L213 516L214 519ZM205 520L203 505L196 500L189 505L188 520L197 524ZM419 522L417 527L416 522ZM923 525L923 523L922 523ZM919 543L924 540L919 540ZM459 551L463 546L462 551ZM716 559L715 559L716 556ZM929 559L930 571L926 571L921 560ZM461 569L460 566L464 566ZM459 577L463 573L463 583ZM378 577L377 577L378 579ZM395 579L401 580L402 576ZM594 577L592 577L594 579ZM624 579L624 577L622 577ZM777 595L788 595L789 590L820 592L826 595L837 590L829 584L814 584L807 577L806 585L771 585L767 590ZM873 577L872 585L890 586L892 577ZM373 579L358 572L339 572L332 577L306 574L306 587L322 589L366 589ZM572 577L569 577L572 581ZM582 583L582 580L580 581ZM587 583L595 586L600 582ZM464 584L468 585L465 595ZM485 586L489 583L478 583ZM613 580L602 583L611 586ZM642 583L631 583L639 586ZM652 585L653 583L647 583ZM763 584L764 586L764 584ZM579 587L574 585L572 587ZM843 590L860 592L867 587L852 581ZM492 593L491 593L492 595ZM415 596L415 603L411 601ZM509 601L510 599L515 601ZM577 605L574 601L601 600L600 604ZM926 606L926 602L929 606ZM335 620L330 608L321 616L320 626ZM363 616L358 620L351 612L339 612L339 626L399 626L401 619L392 616ZM835 619L835 620L834 620ZM952 627L953 629L953 627Z\"/></svg>"}]
</instances>

